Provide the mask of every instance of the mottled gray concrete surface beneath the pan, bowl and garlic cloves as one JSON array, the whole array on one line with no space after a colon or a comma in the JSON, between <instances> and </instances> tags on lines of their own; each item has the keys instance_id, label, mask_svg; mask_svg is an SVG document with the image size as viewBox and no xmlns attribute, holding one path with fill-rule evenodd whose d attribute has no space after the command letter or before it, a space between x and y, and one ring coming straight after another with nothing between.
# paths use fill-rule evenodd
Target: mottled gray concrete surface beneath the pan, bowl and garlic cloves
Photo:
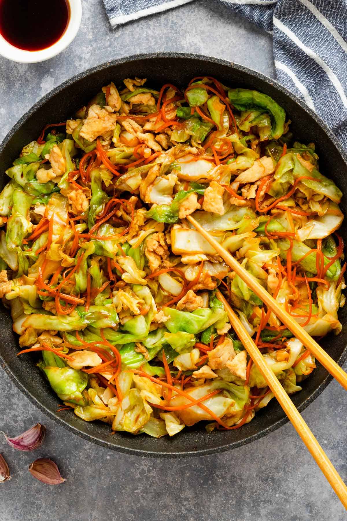
<instances>
[{"instance_id":1,"label":"mottled gray concrete surface beneath the pan, bowl and garlic cloves","mask_svg":"<svg viewBox=\"0 0 347 521\"><path fill-rule=\"evenodd\" d=\"M182 51L231 59L274 76L271 36L214 0L201 0L112 31L101 0L83 1L72 45L42 64L0 57L0 139L43 94L75 73L114 57ZM219 455L155 460L111 452L57 426L20 394L0 368L0 429L16 435L37 421L44 445L19 453L0 441L12 480L0 485L0 521L325 521L344 509L299 437L286 425ZM330 386L303 416L347 479L345 395ZM51 457L67 481L49 487L28 465Z\"/></svg>"}]
</instances>

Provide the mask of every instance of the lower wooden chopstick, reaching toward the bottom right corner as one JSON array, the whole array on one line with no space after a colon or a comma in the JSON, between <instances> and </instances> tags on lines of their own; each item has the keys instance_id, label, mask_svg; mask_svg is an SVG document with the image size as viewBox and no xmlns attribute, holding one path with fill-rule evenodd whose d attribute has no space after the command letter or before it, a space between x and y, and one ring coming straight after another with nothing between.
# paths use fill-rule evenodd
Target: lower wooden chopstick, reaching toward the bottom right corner
<instances>
[{"instance_id":1,"label":"lower wooden chopstick, reaching toward the bottom right corner","mask_svg":"<svg viewBox=\"0 0 347 521\"><path fill-rule=\"evenodd\" d=\"M261 374L267 382L267 385L276 396L278 403L290 419L294 429L298 432L298 435L305 443L307 449L309 449L318 467L320 468L320 470L322 470L323 474L329 481L333 490L335 490L341 503L347 509L347 487L342 481L341 476L338 474L336 468L332 465L328 456L326 455L322 447L319 445L311 429L306 424L298 409L295 407L288 394L279 383L279 380L265 362L263 355L255 345L254 341L251 339L245 327L241 324L240 319L236 316L235 312L227 303L224 296L219 290L217 290L216 296L221 302L223 302L224 307L229 316L230 324L233 326L237 336L239 337L242 344L245 346L246 351L252 358L254 364L260 370Z\"/></svg>"}]
</instances>

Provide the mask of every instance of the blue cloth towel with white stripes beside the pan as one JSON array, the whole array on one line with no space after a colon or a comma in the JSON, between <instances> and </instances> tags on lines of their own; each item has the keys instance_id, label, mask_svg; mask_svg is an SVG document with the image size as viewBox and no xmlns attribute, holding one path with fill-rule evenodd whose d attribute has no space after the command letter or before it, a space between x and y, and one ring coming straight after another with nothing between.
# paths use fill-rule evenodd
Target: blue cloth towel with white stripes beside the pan
<instances>
[{"instance_id":1,"label":"blue cloth towel with white stripes beside the pan","mask_svg":"<svg viewBox=\"0 0 347 521\"><path fill-rule=\"evenodd\" d=\"M104 0L113 27L191 0ZM277 80L347 150L347 0L220 0L273 33Z\"/></svg>"}]
</instances>

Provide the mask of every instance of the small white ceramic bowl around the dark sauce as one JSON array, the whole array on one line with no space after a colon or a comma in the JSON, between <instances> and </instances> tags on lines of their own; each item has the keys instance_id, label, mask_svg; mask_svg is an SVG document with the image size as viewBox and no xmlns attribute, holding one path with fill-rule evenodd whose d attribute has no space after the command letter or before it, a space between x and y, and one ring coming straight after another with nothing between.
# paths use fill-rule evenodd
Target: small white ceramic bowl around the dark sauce
<instances>
[{"instance_id":1,"label":"small white ceramic bowl around the dark sauce","mask_svg":"<svg viewBox=\"0 0 347 521\"><path fill-rule=\"evenodd\" d=\"M18 61L19 63L24 64L33 64L38 61L49 60L49 58L53 58L54 56L57 56L57 54L61 53L61 51L70 45L72 40L75 38L82 19L81 0L68 0L68 2L70 5L68 27L56 43L46 49L42 49L41 51L24 51L24 49L19 49L18 47L11 45L0 34L0 54L12 61Z\"/></svg>"}]
</instances>

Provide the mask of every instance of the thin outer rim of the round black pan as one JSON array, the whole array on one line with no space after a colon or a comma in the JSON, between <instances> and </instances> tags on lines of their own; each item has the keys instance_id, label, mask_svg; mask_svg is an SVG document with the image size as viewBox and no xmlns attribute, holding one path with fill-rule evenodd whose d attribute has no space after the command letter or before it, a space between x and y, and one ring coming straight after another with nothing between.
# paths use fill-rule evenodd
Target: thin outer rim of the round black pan
<instances>
[{"instance_id":1,"label":"thin outer rim of the round black pan","mask_svg":"<svg viewBox=\"0 0 347 521\"><path fill-rule=\"evenodd\" d=\"M110 61L107 61L103 64L97 65L95 67L92 67L90 69L87 69L83 72L78 73L77 75L73 76L72 78L69 78L62 83L60 83L58 86L56 86L53 90L49 91L47 94L45 94L40 100L38 100L16 123L15 125L10 129L10 131L7 133L6 137L0 144L0 155L2 154L5 146L9 142L9 140L12 138L12 136L21 128L23 123L25 123L31 116L33 116L36 112L36 110L40 107L42 107L50 98L55 96L56 94L59 94L60 92L63 92L67 87L70 85L73 85L74 83L80 81L80 80L86 80L88 76L93 75L95 72L105 70L109 67L115 67L120 64L124 63L131 63L132 61L136 60L146 60L146 59L155 59L155 58L184 58L186 60L201 60L205 61L207 64L214 63L219 64L222 66L225 66L231 70L237 70L241 73L246 73L248 75L251 75L255 78L258 78L265 83L271 85L273 88L280 91L282 94L284 94L286 97L290 98L291 101L296 103L300 106L301 110L305 111L307 114L309 114L317 123L317 125L323 129L325 134L328 136L328 138L335 144L341 158L343 159L343 162L345 163L345 166L347 168L347 153L344 151L341 143L333 134L333 132L328 128L326 123L320 119L319 116L307 105L304 104L304 102L292 94L288 89L286 89L284 86L282 86L280 83L278 83L273 78L269 78L265 75L263 75L261 72L258 72L254 69L251 69L249 67L245 67L243 65L237 64L234 61L225 60L222 58L216 58L213 56L208 55L200 55L195 53L181 53L181 52L159 52L159 53L143 53L143 54L135 54L131 56L125 56L121 58L116 58ZM340 357L337 359L337 363L342 366L345 359L347 358L347 346L344 347ZM131 455L138 455L138 456L146 456L146 457L158 457L158 458L175 458L175 457L192 457L192 456L204 456L209 454L215 454L215 453L221 453L227 450L231 450L234 448L237 448L241 445L246 445L248 443L251 443L252 441L255 441L257 439L263 438L270 432L273 432L277 430L282 425L285 425L289 419L287 416L284 416L280 418L279 420L275 421L270 426L267 426L265 428L262 428L259 432L254 433L253 435L247 437L246 439L241 440L235 440L232 442L225 443L223 445L215 446L213 448L208 449L197 449L197 450L189 450L189 451L172 451L170 452L170 448L168 452L157 452L154 450L143 450L143 449L134 449L129 448L124 445L120 444L114 444L109 443L106 440L101 440L100 438L97 438L96 436L85 433L78 428L70 425L68 421L63 419L62 417L59 417L56 413L53 413L48 409L47 406L45 406L41 401L36 398L27 388L24 387L22 382L17 378L17 376L14 374L10 366L5 362L4 358L2 357L0 353L0 362L5 370L6 374L10 378L10 380L15 384L15 386L30 400L31 403L33 403L40 411L42 411L44 414L46 414L49 418L56 421L59 425L62 427L65 427L70 432L73 432L75 435L79 436L80 438L83 438L88 441L92 441L93 443L96 443L98 445L104 446L105 448L119 451L126 454ZM327 373L324 380L318 385L318 387L300 404L298 405L299 412L302 412L308 405L310 405L316 398L319 396L320 393L328 386L328 384L331 382L332 376ZM126 442L126 438L124 438L124 441Z\"/></svg>"}]
</instances>

